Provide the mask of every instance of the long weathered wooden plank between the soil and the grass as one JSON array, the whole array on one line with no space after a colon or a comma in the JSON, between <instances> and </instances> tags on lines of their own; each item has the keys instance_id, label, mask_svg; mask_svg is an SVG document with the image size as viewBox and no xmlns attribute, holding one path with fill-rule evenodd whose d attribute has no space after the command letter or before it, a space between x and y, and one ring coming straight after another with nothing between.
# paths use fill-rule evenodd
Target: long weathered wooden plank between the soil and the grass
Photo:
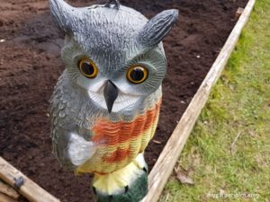
<instances>
[{"instance_id":1,"label":"long weathered wooden plank between the soil and the grass","mask_svg":"<svg viewBox=\"0 0 270 202\"><path fill-rule=\"evenodd\" d=\"M168 140L157 162L148 176L148 195L141 202L156 202L171 175L175 162L177 162L186 140L190 135L193 126L198 119L203 106L211 92L211 87L216 83L220 74L226 66L232 50L235 48L239 35L247 23L248 17L254 7L256 0L249 0L244 12L238 19L237 24L231 31L228 40L220 51L219 56L211 66L211 69L203 80L198 92L193 97L188 108L185 110L182 119L175 127L175 130Z\"/></svg>"}]
</instances>

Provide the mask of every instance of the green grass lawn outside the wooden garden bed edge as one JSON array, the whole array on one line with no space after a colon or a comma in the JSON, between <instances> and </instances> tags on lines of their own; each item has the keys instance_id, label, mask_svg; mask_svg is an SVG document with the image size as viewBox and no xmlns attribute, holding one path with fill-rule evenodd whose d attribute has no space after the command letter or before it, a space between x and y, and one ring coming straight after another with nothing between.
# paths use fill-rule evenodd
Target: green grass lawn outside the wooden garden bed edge
<instances>
[{"instance_id":1,"label":"green grass lawn outside the wooden garden bed edge","mask_svg":"<svg viewBox=\"0 0 270 202\"><path fill-rule=\"evenodd\" d=\"M194 184L172 174L159 202L270 201L269 0L257 0L177 166Z\"/></svg>"}]
</instances>

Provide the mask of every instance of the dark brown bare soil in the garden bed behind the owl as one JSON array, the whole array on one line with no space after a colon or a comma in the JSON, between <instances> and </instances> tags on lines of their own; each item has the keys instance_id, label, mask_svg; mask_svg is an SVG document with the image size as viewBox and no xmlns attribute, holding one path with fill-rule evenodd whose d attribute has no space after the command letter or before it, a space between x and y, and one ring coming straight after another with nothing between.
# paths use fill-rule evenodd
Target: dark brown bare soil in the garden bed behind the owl
<instances>
[{"instance_id":1,"label":"dark brown bare soil in the garden bed behind the owl","mask_svg":"<svg viewBox=\"0 0 270 202\"><path fill-rule=\"evenodd\" d=\"M234 13L246 2L121 1L148 17L168 8L180 11L179 21L164 40L168 71L154 137L161 144L148 145L150 168L229 36ZM48 0L0 0L0 155L63 202L93 201L89 176L64 171L51 154L49 97L64 69L59 59L62 39L51 22Z\"/></svg>"}]
</instances>

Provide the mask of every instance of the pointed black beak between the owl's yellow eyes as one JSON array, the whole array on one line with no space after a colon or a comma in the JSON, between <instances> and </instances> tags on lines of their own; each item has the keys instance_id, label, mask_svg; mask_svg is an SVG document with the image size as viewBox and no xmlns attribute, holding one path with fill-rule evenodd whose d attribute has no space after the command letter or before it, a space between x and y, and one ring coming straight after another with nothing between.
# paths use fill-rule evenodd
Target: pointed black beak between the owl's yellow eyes
<instances>
[{"instance_id":1,"label":"pointed black beak between the owl's yellow eyes","mask_svg":"<svg viewBox=\"0 0 270 202\"><path fill-rule=\"evenodd\" d=\"M104 99L106 101L107 109L109 113L112 112L112 106L118 96L118 89L110 80L105 83L103 90Z\"/></svg>"}]
</instances>

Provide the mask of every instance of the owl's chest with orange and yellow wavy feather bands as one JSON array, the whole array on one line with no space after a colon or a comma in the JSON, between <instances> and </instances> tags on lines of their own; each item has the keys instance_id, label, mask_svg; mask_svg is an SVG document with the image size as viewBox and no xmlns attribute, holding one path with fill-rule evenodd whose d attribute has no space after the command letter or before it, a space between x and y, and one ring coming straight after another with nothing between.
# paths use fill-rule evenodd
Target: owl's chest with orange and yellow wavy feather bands
<instances>
[{"instance_id":1,"label":"owl's chest with orange and yellow wavy feather bands","mask_svg":"<svg viewBox=\"0 0 270 202\"><path fill-rule=\"evenodd\" d=\"M133 161L155 134L160 102L129 121L97 119L91 129L91 141L98 145L98 149L80 171L108 173Z\"/></svg>"}]
</instances>

